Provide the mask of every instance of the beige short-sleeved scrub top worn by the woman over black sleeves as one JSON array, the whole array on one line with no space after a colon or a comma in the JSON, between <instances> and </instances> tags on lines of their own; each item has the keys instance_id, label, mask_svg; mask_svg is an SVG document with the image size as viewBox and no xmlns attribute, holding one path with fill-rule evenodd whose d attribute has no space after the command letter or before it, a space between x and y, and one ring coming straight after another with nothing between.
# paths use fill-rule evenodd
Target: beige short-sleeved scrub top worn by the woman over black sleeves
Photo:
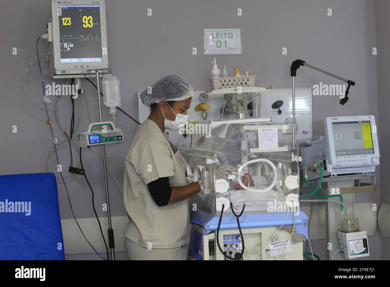
<instances>
[{"instance_id":1,"label":"beige short-sleeved scrub top worn by the woman over black sleeves","mask_svg":"<svg viewBox=\"0 0 390 287\"><path fill-rule=\"evenodd\" d=\"M168 135L147 119L138 128L126 157L124 207L129 222L125 236L140 246L174 248L190 244L188 200L159 207L147 184L169 177L170 186L187 185L186 161Z\"/></svg>"}]
</instances>

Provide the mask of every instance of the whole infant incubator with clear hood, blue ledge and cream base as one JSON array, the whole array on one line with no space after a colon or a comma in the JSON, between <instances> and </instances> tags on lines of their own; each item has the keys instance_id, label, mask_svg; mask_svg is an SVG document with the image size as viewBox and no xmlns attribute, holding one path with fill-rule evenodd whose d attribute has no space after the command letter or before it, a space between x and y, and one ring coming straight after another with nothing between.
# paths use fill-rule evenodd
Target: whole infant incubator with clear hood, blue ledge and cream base
<instances>
[{"instance_id":1,"label":"whole infant incubator with clear hood, blue ledge and cream base","mask_svg":"<svg viewBox=\"0 0 390 287\"><path fill-rule=\"evenodd\" d=\"M308 218L297 209L296 124L251 118L200 125L208 125L211 132L187 135L178 145L187 162L188 182L200 180L201 184L201 192L189 199L190 258L219 260L241 255L244 260L283 256L301 260ZM214 246L214 254L208 253L209 246Z\"/></svg>"}]
</instances>

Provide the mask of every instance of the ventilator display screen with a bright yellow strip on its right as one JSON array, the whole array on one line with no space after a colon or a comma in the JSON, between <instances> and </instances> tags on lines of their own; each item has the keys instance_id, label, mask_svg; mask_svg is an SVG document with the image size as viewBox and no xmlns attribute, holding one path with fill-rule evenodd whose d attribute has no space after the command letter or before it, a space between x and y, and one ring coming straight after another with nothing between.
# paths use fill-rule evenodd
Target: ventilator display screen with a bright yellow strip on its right
<instances>
[{"instance_id":1,"label":"ventilator display screen with a bright yellow strip on its right","mask_svg":"<svg viewBox=\"0 0 390 287\"><path fill-rule=\"evenodd\" d=\"M333 122L336 156L373 154L370 121Z\"/></svg>"}]
</instances>

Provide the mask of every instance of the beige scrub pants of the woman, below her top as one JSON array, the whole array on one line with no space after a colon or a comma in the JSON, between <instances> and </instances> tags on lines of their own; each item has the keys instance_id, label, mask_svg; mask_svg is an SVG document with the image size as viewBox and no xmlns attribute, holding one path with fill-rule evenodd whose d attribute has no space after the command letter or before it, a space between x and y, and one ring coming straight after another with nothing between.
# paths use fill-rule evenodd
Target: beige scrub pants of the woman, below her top
<instances>
[{"instance_id":1,"label":"beige scrub pants of the woman, below her top","mask_svg":"<svg viewBox=\"0 0 390 287\"><path fill-rule=\"evenodd\" d=\"M175 248L147 249L125 236L124 246L130 260L187 260L188 245Z\"/></svg>"}]
</instances>

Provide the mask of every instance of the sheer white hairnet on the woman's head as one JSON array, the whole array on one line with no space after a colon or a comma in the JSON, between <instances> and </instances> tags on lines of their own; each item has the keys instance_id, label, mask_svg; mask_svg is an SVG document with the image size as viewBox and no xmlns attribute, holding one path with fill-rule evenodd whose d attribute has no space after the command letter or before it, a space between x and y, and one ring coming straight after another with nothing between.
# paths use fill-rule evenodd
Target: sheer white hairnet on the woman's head
<instances>
[{"instance_id":1,"label":"sheer white hairnet on the woman's head","mask_svg":"<svg viewBox=\"0 0 390 287\"><path fill-rule=\"evenodd\" d=\"M181 77L169 75L161 78L140 94L142 103L150 107L152 103L161 101L181 101L193 96L191 84ZM148 93L149 92L149 93Z\"/></svg>"}]
</instances>

